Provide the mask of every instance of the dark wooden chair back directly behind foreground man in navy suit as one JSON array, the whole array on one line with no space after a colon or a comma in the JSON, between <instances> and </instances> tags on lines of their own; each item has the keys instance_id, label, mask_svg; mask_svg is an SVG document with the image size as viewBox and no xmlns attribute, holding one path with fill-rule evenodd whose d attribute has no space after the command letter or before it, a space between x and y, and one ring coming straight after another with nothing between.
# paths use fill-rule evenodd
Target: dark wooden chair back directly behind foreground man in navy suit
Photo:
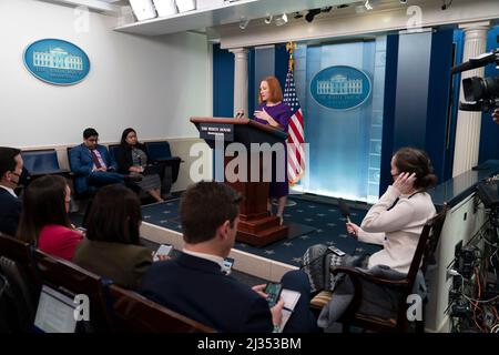
<instances>
[{"instance_id":1,"label":"dark wooden chair back directly behind foreground man in navy suit","mask_svg":"<svg viewBox=\"0 0 499 355\"><path fill-rule=\"evenodd\" d=\"M131 333L214 333L196 321L159 305L142 295L111 285L109 294L115 327Z\"/></svg>"}]
</instances>

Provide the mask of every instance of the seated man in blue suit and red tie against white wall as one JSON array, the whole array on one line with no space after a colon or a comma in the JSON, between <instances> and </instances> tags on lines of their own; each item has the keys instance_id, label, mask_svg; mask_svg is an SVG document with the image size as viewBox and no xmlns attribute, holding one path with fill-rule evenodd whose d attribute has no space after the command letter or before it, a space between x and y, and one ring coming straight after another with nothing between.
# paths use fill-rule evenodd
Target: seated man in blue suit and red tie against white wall
<instances>
[{"instance_id":1,"label":"seated man in blue suit and red tie against white wall","mask_svg":"<svg viewBox=\"0 0 499 355\"><path fill-rule=\"evenodd\" d=\"M108 149L98 142L99 133L89 128L83 131L83 143L70 150L70 165L77 174L74 189L78 193L139 179L115 173Z\"/></svg>"}]
</instances>

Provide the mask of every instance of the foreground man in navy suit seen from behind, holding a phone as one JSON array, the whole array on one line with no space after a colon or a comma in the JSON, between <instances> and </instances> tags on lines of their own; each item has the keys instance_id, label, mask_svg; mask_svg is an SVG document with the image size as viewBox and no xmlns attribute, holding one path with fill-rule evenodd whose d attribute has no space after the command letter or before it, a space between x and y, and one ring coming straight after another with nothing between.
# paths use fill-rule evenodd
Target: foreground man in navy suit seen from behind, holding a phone
<instances>
[{"instance_id":1,"label":"foreground man in navy suit seen from behind, holding a phone","mask_svg":"<svg viewBox=\"0 0 499 355\"><path fill-rule=\"evenodd\" d=\"M271 308L265 285L252 288L222 272L237 233L240 202L240 194L223 183L200 182L187 189L180 206L184 250L176 260L154 263L141 293L220 332L278 332L283 300ZM286 281L292 278L286 274L283 286L302 296L284 331L313 331L308 280L304 276L295 287Z\"/></svg>"}]
</instances>

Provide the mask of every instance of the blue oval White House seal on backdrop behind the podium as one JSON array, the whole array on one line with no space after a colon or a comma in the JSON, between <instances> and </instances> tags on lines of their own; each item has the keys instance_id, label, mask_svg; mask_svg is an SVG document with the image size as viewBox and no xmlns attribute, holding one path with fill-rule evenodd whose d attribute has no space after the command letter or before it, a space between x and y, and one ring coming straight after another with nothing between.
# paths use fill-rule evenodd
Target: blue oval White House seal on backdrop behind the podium
<instances>
[{"instance_id":1,"label":"blue oval White House seal on backdrop behind the podium","mask_svg":"<svg viewBox=\"0 0 499 355\"><path fill-rule=\"evenodd\" d=\"M353 67L336 65L320 70L310 81L310 93L318 104L332 110L352 110L370 95L370 78Z\"/></svg>"}]
</instances>

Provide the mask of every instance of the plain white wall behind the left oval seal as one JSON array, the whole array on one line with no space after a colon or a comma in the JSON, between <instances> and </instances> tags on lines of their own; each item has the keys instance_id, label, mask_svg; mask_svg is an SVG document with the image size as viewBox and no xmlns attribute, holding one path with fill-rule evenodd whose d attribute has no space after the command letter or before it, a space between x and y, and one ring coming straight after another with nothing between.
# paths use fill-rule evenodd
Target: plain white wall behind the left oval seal
<instances>
[{"instance_id":1,"label":"plain white wall behind the left oval seal","mask_svg":"<svg viewBox=\"0 0 499 355\"><path fill-rule=\"evenodd\" d=\"M211 115L208 48L202 34L142 38L113 31L116 19L90 13L88 32L70 7L35 0L0 1L0 145L74 144L93 126L101 141L120 139L126 126L139 139L194 138L193 115ZM33 41L55 38L86 52L89 75L55 87L23 64Z\"/></svg>"}]
</instances>

